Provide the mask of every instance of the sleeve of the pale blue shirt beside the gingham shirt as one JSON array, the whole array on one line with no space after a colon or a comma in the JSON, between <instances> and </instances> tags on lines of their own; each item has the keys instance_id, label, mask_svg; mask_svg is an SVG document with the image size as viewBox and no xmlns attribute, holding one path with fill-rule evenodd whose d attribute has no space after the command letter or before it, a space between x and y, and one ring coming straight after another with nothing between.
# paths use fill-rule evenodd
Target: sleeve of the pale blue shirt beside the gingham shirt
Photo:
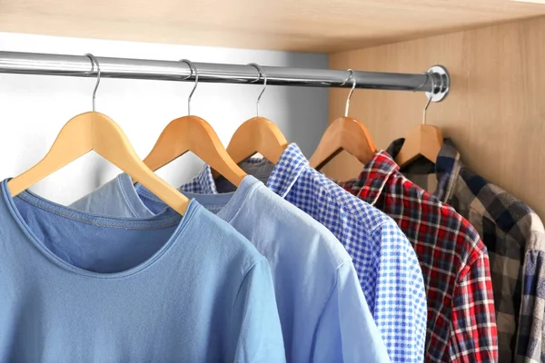
<instances>
[{"instance_id":1,"label":"sleeve of the pale blue shirt beside the gingham shirt","mask_svg":"<svg viewBox=\"0 0 545 363\"><path fill-rule=\"evenodd\" d=\"M337 269L314 340L314 362L390 362L350 261Z\"/></svg>"}]
</instances>

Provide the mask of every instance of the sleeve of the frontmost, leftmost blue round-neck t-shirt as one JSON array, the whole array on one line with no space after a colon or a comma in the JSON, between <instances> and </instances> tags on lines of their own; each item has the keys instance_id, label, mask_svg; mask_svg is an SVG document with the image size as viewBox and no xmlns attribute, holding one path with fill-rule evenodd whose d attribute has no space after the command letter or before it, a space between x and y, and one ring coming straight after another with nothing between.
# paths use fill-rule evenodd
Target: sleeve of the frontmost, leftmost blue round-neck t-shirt
<instances>
[{"instance_id":1,"label":"sleeve of the frontmost, leftmost blue round-neck t-shirt","mask_svg":"<svg viewBox=\"0 0 545 363\"><path fill-rule=\"evenodd\" d=\"M264 258L244 277L232 319L233 362L286 361L271 270Z\"/></svg>"}]
</instances>

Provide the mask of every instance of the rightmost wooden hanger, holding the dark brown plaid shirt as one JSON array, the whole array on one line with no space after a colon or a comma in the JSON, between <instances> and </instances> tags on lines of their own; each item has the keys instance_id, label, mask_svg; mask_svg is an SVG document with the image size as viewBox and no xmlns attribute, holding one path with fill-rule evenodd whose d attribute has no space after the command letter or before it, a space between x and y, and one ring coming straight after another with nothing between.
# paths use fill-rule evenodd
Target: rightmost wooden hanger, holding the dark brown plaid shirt
<instances>
[{"instance_id":1,"label":"rightmost wooden hanger, holding the dark brown plaid shirt","mask_svg":"<svg viewBox=\"0 0 545 363\"><path fill-rule=\"evenodd\" d=\"M427 73L430 76L429 73ZM435 89L435 83L433 77L431 76L432 89ZM428 102L424 107L422 113L422 123L418 127L415 127L405 138L401 150L395 158L400 167L410 164L415 159L420 156L428 159L429 161L435 163L437 161L437 156L441 152L443 145L443 136L442 132L438 127L426 124L426 112L428 111L428 106L430 106L432 93L427 94Z\"/></svg>"}]
</instances>

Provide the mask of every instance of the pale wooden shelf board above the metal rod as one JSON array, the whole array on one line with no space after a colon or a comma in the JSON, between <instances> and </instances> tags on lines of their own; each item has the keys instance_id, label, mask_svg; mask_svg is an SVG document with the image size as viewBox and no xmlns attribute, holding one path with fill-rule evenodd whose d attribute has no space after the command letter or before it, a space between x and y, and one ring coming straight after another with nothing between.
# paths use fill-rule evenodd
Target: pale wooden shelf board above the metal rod
<instances>
[{"instance_id":1,"label":"pale wooden shelf board above the metal rod","mask_svg":"<svg viewBox=\"0 0 545 363\"><path fill-rule=\"evenodd\" d=\"M0 0L0 32L332 52L537 15L511 0Z\"/></svg>"}]
</instances>

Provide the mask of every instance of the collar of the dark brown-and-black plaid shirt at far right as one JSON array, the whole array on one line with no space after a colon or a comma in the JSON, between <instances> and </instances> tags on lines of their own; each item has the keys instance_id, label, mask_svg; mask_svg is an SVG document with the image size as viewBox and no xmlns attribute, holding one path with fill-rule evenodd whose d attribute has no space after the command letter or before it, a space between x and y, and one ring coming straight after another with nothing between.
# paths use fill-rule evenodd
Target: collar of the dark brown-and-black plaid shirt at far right
<instances>
[{"instance_id":1,"label":"collar of the dark brown-and-black plaid shirt at far right","mask_svg":"<svg viewBox=\"0 0 545 363\"><path fill-rule=\"evenodd\" d=\"M397 139L391 142L387 151L391 154L393 158L395 158L400 152L404 142L405 139ZM419 163L420 168L418 166ZM440 201L447 203L450 202L454 194L454 186L456 180L460 175L461 168L464 167L463 162L461 162L460 152L458 152L458 150L456 149L454 142L452 142L451 139L444 140L443 146L441 147L441 151L437 156L435 164L433 165L430 163L429 166L426 167L428 169L427 171L422 169L422 165L425 165L425 162L417 159L415 162L412 162L411 165L408 165L407 168L403 168L401 172L405 172L406 170L407 173L410 174L411 170L414 171L415 168L419 168L418 170L420 173L435 173L438 186L437 191L433 192L433 194Z\"/></svg>"}]
</instances>

